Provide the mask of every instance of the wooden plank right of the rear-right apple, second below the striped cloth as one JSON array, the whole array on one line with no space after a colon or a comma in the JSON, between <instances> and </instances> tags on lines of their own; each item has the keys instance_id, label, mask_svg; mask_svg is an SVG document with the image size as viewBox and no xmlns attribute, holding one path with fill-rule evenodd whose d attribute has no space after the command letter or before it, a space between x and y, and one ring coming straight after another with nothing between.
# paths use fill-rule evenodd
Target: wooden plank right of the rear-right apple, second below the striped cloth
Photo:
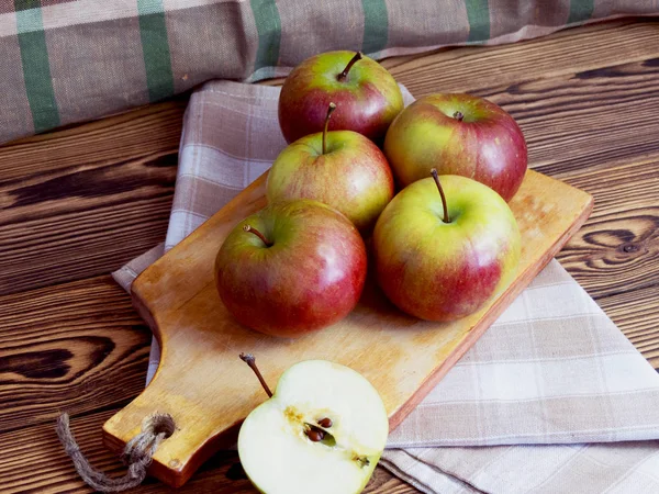
<instances>
[{"instance_id":1,"label":"wooden plank right of the rear-right apple, second below the striped cloth","mask_svg":"<svg viewBox=\"0 0 659 494\"><path fill-rule=\"evenodd\" d=\"M659 37L657 38L659 45ZM520 123L529 164L557 178L659 156L659 64L614 68L478 91Z\"/></svg>"}]
</instances>

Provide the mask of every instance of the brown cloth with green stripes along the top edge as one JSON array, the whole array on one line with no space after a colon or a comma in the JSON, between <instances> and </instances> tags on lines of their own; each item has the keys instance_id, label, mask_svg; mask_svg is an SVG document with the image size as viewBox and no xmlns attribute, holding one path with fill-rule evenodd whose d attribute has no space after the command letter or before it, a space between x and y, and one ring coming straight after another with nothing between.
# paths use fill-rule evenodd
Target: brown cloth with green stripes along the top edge
<instances>
[{"instance_id":1,"label":"brown cloth with green stripes along the top edge","mask_svg":"<svg viewBox=\"0 0 659 494\"><path fill-rule=\"evenodd\" d=\"M330 49L381 58L658 12L644 0L0 0L0 143L209 79L282 76Z\"/></svg>"}]
</instances>

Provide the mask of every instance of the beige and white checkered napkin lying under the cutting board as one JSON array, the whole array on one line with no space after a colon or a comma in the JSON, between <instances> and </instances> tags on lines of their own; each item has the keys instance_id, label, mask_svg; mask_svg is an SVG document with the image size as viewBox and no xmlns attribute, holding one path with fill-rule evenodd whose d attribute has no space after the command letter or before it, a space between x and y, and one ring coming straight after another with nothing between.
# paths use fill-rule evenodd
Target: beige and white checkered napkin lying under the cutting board
<instances>
[{"instance_id":1,"label":"beige and white checkered napkin lying under the cutting board","mask_svg":"<svg viewBox=\"0 0 659 494\"><path fill-rule=\"evenodd\" d=\"M124 288L270 166L278 96L234 82L192 96L165 246L115 273ZM157 360L154 346L149 375ZM552 261L391 434L382 463L428 493L659 492L657 439L659 374Z\"/></svg>"}]
</instances>

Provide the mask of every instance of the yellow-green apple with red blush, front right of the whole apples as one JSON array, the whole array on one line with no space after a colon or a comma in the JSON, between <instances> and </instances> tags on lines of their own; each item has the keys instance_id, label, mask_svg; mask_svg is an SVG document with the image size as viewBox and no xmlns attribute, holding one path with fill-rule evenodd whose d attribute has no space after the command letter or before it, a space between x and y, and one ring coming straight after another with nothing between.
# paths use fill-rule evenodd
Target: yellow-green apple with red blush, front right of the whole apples
<instances>
[{"instance_id":1,"label":"yellow-green apple with red blush, front right of the whole apples","mask_svg":"<svg viewBox=\"0 0 659 494\"><path fill-rule=\"evenodd\" d=\"M505 201L460 176L440 176L449 223L432 178L389 203L373 232L378 282L407 314L427 321L469 315L515 276L521 240Z\"/></svg>"}]
</instances>

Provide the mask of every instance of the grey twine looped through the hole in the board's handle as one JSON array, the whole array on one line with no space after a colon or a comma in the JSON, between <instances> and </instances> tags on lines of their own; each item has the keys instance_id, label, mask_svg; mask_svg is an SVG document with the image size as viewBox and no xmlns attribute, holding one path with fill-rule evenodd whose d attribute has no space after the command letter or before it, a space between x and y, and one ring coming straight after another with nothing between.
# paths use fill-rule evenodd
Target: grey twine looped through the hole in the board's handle
<instances>
[{"instance_id":1,"label":"grey twine looped through the hole in the board's handle","mask_svg":"<svg viewBox=\"0 0 659 494\"><path fill-rule=\"evenodd\" d=\"M100 492L122 492L136 487L146 478L156 449L174 434L176 425L168 414L154 414L142 424L142 431L131 439L122 453L122 461L129 471L120 478L111 478L94 469L80 451L69 425L69 416L63 413L57 418L57 436L64 450L71 458L80 478L92 489Z\"/></svg>"}]
</instances>

